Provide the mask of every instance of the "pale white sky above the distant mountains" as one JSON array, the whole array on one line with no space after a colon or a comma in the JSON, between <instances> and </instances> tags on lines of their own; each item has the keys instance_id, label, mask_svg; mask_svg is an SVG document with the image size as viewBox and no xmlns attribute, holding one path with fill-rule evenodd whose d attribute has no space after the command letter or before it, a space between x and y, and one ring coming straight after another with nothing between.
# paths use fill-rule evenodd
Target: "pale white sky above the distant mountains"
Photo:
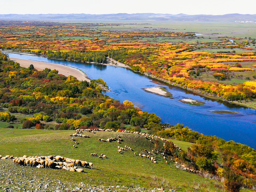
<instances>
[{"instance_id":1,"label":"pale white sky above the distant mountains","mask_svg":"<svg viewBox=\"0 0 256 192\"><path fill-rule=\"evenodd\" d=\"M255 5L255 0L2 0L0 14L256 14Z\"/></svg>"}]
</instances>

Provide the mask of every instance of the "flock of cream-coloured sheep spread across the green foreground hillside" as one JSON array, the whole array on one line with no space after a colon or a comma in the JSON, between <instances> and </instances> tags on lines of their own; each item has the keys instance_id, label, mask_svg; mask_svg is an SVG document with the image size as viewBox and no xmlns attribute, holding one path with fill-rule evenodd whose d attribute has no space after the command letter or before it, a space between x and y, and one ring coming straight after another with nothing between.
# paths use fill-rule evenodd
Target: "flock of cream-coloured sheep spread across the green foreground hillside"
<instances>
[{"instance_id":1,"label":"flock of cream-coloured sheep spread across the green foreground hillside","mask_svg":"<svg viewBox=\"0 0 256 192\"><path fill-rule=\"evenodd\" d=\"M90 138L89 135L83 134L83 131L95 133L95 131L111 132L112 130L103 130L103 129L80 129L79 130L78 129L78 130L76 130L76 133L70 134L70 137L72 137L71 140L75 141L75 139L73 137ZM125 131L125 130L123 132L130 133L130 131ZM139 134L141 137L148 139L149 142L151 142L151 140L154 140L154 139L162 140L162 141L164 141L164 144L163 144L164 146L165 146L165 142L168 142L166 139L158 137L157 135L153 135L153 134L141 133L141 132L133 132L133 134ZM98 139L98 140L102 141L102 142L117 141L118 143L123 141L120 135L118 135L117 137L108 138L106 140L105 139ZM77 141L75 141L75 145L77 145ZM75 145L73 147L75 147ZM179 146L174 144L174 147L177 148L179 151L181 151ZM122 153L122 151L126 151L126 149L133 151L132 148L129 146L124 146L124 148L118 146L117 152ZM156 162L156 154L158 154L158 153L159 153L159 151L154 151L154 150L147 151L145 149L143 153L139 153L139 156L142 158L148 158L152 163L157 163ZM137 154L134 152L134 155L136 156ZM163 158L165 160L167 160L166 155L164 153L160 153L160 155L163 156ZM96 153L92 153L91 156L99 157L99 158L107 158L107 156L105 154L101 154L98 156ZM38 168L51 168L51 169L63 169L63 170L71 171L71 172L84 172L83 169L79 169L78 167L92 168L92 166L93 166L92 163L88 163L86 161L81 161L79 159L70 159L70 158L62 157L62 156L30 156L30 157L27 157L26 155L24 155L23 157L13 157L13 156L6 155L5 157L2 157L0 155L0 159L13 159L14 164L19 164L19 165L23 165L23 166L32 166L32 167L38 167ZM172 158L171 158L171 161L173 161ZM167 164L167 161L165 161L165 163ZM192 172L192 173L199 173L199 171L189 169L185 165L179 165L178 162L175 162L175 164L177 164L176 167L181 170Z\"/></svg>"}]
</instances>

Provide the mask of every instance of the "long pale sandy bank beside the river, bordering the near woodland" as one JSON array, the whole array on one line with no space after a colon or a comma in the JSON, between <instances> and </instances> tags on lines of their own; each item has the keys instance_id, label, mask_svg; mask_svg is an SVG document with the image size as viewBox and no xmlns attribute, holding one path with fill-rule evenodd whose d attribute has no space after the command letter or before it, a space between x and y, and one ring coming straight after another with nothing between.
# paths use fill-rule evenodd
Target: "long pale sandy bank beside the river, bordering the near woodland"
<instances>
[{"instance_id":1,"label":"long pale sandy bank beside the river, bordering the near woodland","mask_svg":"<svg viewBox=\"0 0 256 192\"><path fill-rule=\"evenodd\" d=\"M31 61L31 60L25 60L25 59L15 59L10 58L11 60L20 63L21 67L29 67L31 64L37 69L37 70L44 70L45 68L49 68L51 70L56 69L59 71L59 74L65 75L65 76L74 76L79 81L87 81L90 82L91 79L87 77L83 71L69 67L69 66L63 66L55 63L47 63L47 62L40 62L40 61Z\"/></svg>"}]
</instances>

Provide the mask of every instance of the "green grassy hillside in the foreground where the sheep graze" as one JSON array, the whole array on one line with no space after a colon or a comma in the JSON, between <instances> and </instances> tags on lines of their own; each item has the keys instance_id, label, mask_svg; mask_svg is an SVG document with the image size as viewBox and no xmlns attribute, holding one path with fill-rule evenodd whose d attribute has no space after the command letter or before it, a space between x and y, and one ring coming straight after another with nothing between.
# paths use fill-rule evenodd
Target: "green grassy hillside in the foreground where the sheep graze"
<instances>
[{"instance_id":1,"label":"green grassy hillside in the foreground where the sheep graze","mask_svg":"<svg viewBox=\"0 0 256 192\"><path fill-rule=\"evenodd\" d=\"M134 156L134 151L139 154L144 149L154 149L154 143L141 138L137 134L118 132L96 132L86 133L91 138L75 138L79 143L77 148L73 148L74 141L70 140L69 134L74 131L49 131L49 130L22 130L22 129L0 129L1 155L14 156L42 156L61 155L65 157L82 159L93 162L93 169L85 169L85 173L73 173L65 170L37 169L33 167L20 167L13 165L10 160L1 160L2 171L12 170L10 178L15 184L16 175L20 180L24 178L39 178L39 185L45 186L50 180L57 180L63 186L81 188L81 182L85 188L90 186L125 186L141 190L163 188L175 191L222 191L222 183L200 177L196 174L181 171L175 167L174 163L165 164L164 159L157 155L156 164L151 163L147 158ZM122 135L122 143L99 142L99 138ZM191 145L188 142L175 141L182 149ZM125 151L123 154L117 153L117 146L130 146L134 151ZM100 159L90 156L91 153L106 154L108 158ZM3 163L4 162L4 163ZM26 169L25 169L26 168ZM6 183L6 177L0 177L0 182ZM29 182L29 179L26 180ZM42 184L43 183L43 184ZM10 183L9 183L10 184ZM23 183L26 184L26 183ZM23 185L22 184L22 185ZM31 185L23 186L31 190ZM31 183L30 183L31 184ZM50 182L51 184L51 182ZM20 186L22 188L22 185ZM9 185L11 187L12 184ZM52 186L54 186L52 184ZM51 186L50 186L51 187ZM33 187L32 187L33 189ZM121 187L122 189L122 187ZM139 190L140 190L139 189ZM0 189L1 190L1 189Z\"/></svg>"}]
</instances>

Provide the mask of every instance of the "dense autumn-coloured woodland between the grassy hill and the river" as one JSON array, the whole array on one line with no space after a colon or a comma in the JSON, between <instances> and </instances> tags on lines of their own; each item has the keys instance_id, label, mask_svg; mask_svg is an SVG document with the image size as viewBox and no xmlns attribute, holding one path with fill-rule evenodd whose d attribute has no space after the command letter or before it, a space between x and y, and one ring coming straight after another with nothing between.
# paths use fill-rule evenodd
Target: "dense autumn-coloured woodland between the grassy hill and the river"
<instances>
[{"instance_id":1,"label":"dense autumn-coloured woodland between the grassy hill and the river","mask_svg":"<svg viewBox=\"0 0 256 192\"><path fill-rule=\"evenodd\" d=\"M51 52L49 52L50 54ZM88 54L84 54L86 57ZM99 54L94 54L99 55ZM206 136L183 125L161 123L155 114L133 107L132 102L102 94L102 79L91 83L58 75L57 70L37 71L34 66L20 67L0 54L1 121L22 123L23 129L112 129L147 131L164 138L194 143L187 151L177 150L172 142L164 146L166 154L179 164L204 172L204 176L223 180L228 191L256 186L256 151L249 146ZM17 119L18 114L33 117ZM130 125L127 127L126 125ZM126 128L127 127L127 128ZM157 142L155 143L157 147ZM159 146L158 146L159 147Z\"/></svg>"}]
</instances>

